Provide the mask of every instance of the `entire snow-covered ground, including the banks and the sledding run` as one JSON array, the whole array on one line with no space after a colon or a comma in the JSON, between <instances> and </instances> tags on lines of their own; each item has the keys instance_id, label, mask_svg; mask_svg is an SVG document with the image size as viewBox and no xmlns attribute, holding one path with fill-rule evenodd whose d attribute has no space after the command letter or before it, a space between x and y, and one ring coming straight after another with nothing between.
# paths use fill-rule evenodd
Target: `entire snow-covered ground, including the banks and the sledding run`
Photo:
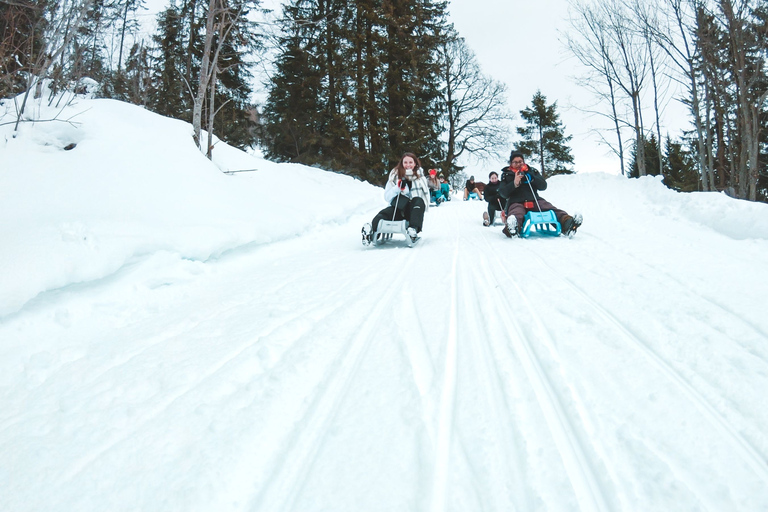
<instances>
[{"instance_id":1,"label":"entire snow-covered ground, including the banks and the sledding run","mask_svg":"<svg viewBox=\"0 0 768 512\"><path fill-rule=\"evenodd\" d=\"M573 239L365 248L380 188L54 114L0 118L0 510L768 510L768 205L580 174Z\"/></svg>"}]
</instances>

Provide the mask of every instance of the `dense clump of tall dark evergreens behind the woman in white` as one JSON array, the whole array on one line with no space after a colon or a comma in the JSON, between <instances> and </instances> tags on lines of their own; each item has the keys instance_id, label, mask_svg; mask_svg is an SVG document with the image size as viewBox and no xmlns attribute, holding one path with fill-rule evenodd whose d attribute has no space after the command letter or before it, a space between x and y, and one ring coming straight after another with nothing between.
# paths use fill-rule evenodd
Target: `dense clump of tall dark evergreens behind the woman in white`
<instances>
[{"instance_id":1,"label":"dense clump of tall dark evergreens behind the woman in white","mask_svg":"<svg viewBox=\"0 0 768 512\"><path fill-rule=\"evenodd\" d=\"M264 108L275 159L383 180L405 151L443 157L445 2L293 0Z\"/></svg>"}]
</instances>

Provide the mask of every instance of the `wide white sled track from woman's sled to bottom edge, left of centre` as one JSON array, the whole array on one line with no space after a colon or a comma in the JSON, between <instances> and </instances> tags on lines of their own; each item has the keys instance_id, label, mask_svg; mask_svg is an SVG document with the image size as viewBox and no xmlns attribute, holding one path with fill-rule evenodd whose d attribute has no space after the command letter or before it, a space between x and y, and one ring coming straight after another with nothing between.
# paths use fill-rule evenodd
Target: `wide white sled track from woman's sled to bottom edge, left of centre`
<instances>
[{"instance_id":1,"label":"wide white sled track from woman's sled to bottom edge, left of centre","mask_svg":"<svg viewBox=\"0 0 768 512\"><path fill-rule=\"evenodd\" d=\"M417 254L410 253L403 265L411 264ZM271 468L269 478L264 482L261 493L249 504L249 510L293 510L301 487L315 464L323 437L347 395L349 384L357 374L378 328L386 321L387 305L399 292L398 283L391 283L380 299L373 299L383 306L372 308L371 316L362 319L356 336L344 345L326 370L314 400L296 422L296 428L286 437L285 456ZM347 298L340 307L349 301Z\"/></svg>"}]
</instances>

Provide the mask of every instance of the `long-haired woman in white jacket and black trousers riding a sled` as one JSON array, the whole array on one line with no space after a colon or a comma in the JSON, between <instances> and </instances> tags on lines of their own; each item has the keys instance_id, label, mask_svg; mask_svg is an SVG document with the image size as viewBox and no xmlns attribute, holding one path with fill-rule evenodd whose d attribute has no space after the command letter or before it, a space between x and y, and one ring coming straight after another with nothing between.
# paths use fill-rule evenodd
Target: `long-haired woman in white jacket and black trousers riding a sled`
<instances>
[{"instance_id":1,"label":"long-haired woman in white jacket and black trousers riding a sled","mask_svg":"<svg viewBox=\"0 0 768 512\"><path fill-rule=\"evenodd\" d=\"M416 155L405 153L389 173L384 199L389 206L371 221L371 229L366 233L367 242L373 241L379 221L403 219L408 221L408 235L415 240L424 224L424 212L429 208L429 185Z\"/></svg>"}]
</instances>

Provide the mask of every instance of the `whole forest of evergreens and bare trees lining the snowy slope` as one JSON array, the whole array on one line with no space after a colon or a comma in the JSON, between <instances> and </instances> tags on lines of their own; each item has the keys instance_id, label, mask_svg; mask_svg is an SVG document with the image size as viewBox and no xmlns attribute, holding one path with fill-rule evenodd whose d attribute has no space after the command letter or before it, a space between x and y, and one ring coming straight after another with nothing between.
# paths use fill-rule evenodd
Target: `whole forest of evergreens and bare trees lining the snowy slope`
<instances>
[{"instance_id":1,"label":"whole forest of evergreens and bare trees lining the snowy slope","mask_svg":"<svg viewBox=\"0 0 768 512\"><path fill-rule=\"evenodd\" d=\"M271 12L259 0L168 0L152 19L147 7L0 0L0 98L14 99L0 122L40 121L34 102L88 90L190 122L209 157L215 135L380 183L413 151L460 178L462 162L503 158L517 135L542 164L560 145L547 174L573 171L557 102L537 94L515 130L506 84L480 68L449 2L286 0ZM618 172L768 200L764 0L573 0L568 16L564 50L583 68L574 87L610 120L600 137ZM674 137L670 101L691 127Z\"/></svg>"}]
</instances>

